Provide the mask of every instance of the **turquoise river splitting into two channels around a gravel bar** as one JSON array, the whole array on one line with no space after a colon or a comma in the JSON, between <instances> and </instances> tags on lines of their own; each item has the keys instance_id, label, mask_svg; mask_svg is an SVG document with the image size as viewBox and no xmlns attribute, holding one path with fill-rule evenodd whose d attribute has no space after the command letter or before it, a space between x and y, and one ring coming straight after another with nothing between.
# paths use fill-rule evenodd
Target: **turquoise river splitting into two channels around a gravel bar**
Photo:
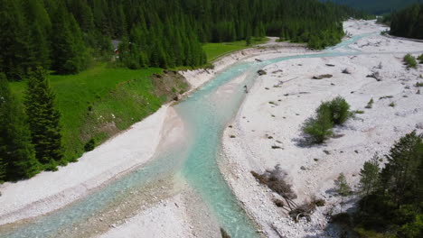
<instances>
[{"instance_id":1,"label":"turquoise river splitting into two channels around a gravel bar","mask_svg":"<svg viewBox=\"0 0 423 238\"><path fill-rule=\"evenodd\" d=\"M187 137L184 142L166 151L157 152L154 160L150 160L146 165L70 206L40 216L0 236L57 237L60 231L71 230L73 225L98 215L108 205L128 197L130 191L171 175L183 178L194 188L231 237L258 237L255 224L240 207L217 165L221 152L221 134L240 108L245 97L243 86L252 85L257 78L258 69L278 61L360 54L351 50L349 45L368 35L354 36L318 54L296 55L263 62L241 62L230 66L195 91L192 96L174 105L186 127ZM240 82L232 80L241 75L244 79ZM229 82L233 84L231 88L221 88Z\"/></svg>"}]
</instances>

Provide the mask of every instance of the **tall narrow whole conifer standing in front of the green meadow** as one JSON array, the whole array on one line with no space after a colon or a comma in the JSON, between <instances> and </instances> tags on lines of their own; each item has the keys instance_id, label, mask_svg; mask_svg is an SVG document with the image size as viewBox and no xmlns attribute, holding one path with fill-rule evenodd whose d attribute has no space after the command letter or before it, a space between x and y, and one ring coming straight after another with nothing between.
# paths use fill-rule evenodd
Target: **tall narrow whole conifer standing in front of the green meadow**
<instances>
[{"instance_id":1,"label":"tall narrow whole conifer standing in front of the green meadow","mask_svg":"<svg viewBox=\"0 0 423 238\"><path fill-rule=\"evenodd\" d=\"M33 71L28 79L24 103L35 155L46 169L55 169L62 158L61 114L55 108L54 98L45 71L41 68Z\"/></svg>"}]
</instances>

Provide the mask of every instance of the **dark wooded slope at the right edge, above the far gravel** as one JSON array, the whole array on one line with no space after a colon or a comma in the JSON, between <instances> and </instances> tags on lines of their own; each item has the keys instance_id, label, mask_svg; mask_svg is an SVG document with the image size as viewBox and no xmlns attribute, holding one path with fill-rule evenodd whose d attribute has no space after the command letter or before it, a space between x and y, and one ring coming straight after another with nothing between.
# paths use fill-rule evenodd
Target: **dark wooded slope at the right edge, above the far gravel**
<instances>
[{"instance_id":1,"label":"dark wooded slope at the right edge, above the far gravel","mask_svg":"<svg viewBox=\"0 0 423 238\"><path fill-rule=\"evenodd\" d=\"M411 5L391 14L390 34L423 39L423 4Z\"/></svg>"}]
</instances>

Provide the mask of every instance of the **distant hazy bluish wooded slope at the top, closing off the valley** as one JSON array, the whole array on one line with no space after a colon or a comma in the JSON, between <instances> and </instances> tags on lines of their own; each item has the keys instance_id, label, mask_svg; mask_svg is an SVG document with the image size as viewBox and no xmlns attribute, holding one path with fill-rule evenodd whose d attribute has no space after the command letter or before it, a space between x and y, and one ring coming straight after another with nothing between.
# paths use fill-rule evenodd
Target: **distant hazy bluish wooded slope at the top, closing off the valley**
<instances>
[{"instance_id":1,"label":"distant hazy bluish wooded slope at the top, closing off the valley","mask_svg":"<svg viewBox=\"0 0 423 238\"><path fill-rule=\"evenodd\" d=\"M329 1L339 5L352 6L371 14L386 14L422 2L421 0L322 0L322 2Z\"/></svg>"}]
</instances>

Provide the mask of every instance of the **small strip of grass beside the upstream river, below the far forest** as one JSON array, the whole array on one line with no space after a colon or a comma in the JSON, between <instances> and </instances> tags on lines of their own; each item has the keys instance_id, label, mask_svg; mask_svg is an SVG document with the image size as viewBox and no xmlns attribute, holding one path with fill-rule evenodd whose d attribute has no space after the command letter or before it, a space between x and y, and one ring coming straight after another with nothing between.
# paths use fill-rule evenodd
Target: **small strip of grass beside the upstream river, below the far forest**
<instances>
[{"instance_id":1,"label":"small strip of grass beside the upstream river, below the far forest","mask_svg":"<svg viewBox=\"0 0 423 238\"><path fill-rule=\"evenodd\" d=\"M268 41L268 38L263 39L253 39L251 41L252 45L261 44ZM234 41L234 42L223 42L223 43L206 43L202 46L202 50L205 51L207 55L207 62L211 63L215 59L218 59L224 54L230 53L235 50L242 50L249 48L245 41Z\"/></svg>"}]
</instances>

